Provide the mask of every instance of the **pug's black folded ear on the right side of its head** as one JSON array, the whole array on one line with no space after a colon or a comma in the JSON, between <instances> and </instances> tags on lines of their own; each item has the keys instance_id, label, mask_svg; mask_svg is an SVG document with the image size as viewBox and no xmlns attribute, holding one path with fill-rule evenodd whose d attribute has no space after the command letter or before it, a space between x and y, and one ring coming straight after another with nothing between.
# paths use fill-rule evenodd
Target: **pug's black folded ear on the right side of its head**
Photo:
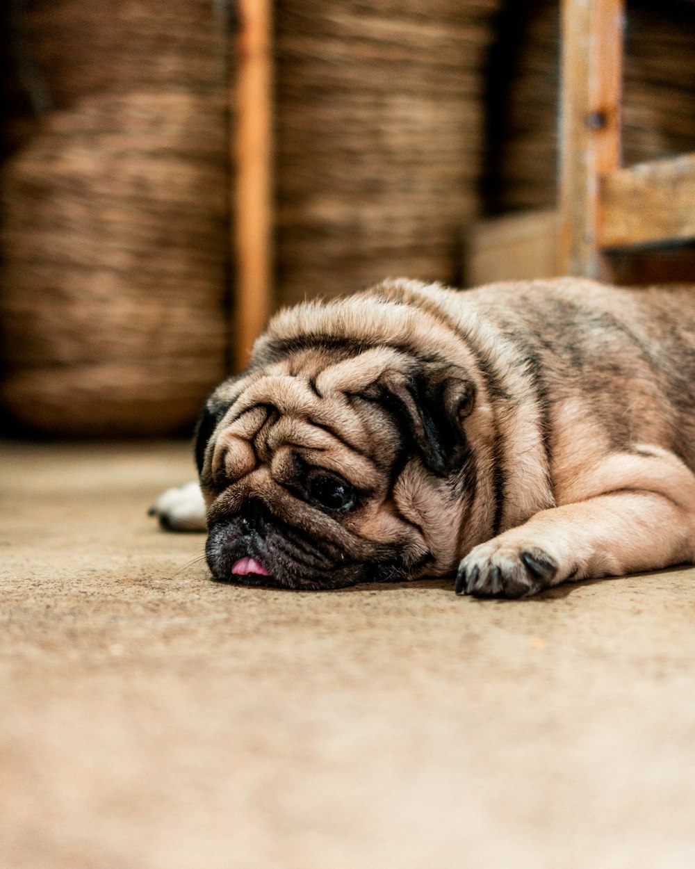
<instances>
[{"instance_id":1,"label":"pug's black folded ear on the right side of its head","mask_svg":"<svg viewBox=\"0 0 695 869\"><path fill-rule=\"evenodd\" d=\"M427 363L412 375L387 372L379 385L428 468L451 474L467 453L462 422L473 410L475 386L463 368Z\"/></svg>"}]
</instances>

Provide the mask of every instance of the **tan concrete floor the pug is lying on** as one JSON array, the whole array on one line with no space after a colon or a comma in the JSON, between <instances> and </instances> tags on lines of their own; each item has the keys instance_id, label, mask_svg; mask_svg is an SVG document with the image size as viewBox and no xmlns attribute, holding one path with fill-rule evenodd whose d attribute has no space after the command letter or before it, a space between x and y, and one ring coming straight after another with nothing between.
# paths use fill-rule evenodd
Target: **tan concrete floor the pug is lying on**
<instances>
[{"instance_id":1,"label":"tan concrete floor the pug is lying on","mask_svg":"<svg viewBox=\"0 0 695 869\"><path fill-rule=\"evenodd\" d=\"M0 466L3 869L695 866L695 570L226 586L184 446Z\"/></svg>"}]
</instances>

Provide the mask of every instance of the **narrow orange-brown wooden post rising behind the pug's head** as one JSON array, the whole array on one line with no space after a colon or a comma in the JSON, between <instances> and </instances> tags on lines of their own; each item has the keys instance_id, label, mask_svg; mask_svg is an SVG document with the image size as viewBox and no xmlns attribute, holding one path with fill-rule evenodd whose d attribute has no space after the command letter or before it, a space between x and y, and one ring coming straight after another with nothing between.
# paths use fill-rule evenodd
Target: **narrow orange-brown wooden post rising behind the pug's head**
<instances>
[{"instance_id":1,"label":"narrow orange-brown wooden post rising behind the pug's head","mask_svg":"<svg viewBox=\"0 0 695 869\"><path fill-rule=\"evenodd\" d=\"M238 0L231 82L235 306L232 360L244 368L270 311L272 286L272 65L270 0Z\"/></svg>"}]
</instances>

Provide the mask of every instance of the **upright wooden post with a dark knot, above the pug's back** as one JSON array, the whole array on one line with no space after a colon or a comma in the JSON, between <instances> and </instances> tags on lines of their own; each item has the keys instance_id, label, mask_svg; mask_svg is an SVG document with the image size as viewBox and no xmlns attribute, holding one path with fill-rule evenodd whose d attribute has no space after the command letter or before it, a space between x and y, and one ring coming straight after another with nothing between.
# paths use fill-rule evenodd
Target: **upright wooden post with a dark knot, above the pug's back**
<instances>
[{"instance_id":1,"label":"upright wooden post with a dark knot, above the pug's back","mask_svg":"<svg viewBox=\"0 0 695 869\"><path fill-rule=\"evenodd\" d=\"M599 179L620 164L625 0L562 0L559 273L609 279Z\"/></svg>"}]
</instances>

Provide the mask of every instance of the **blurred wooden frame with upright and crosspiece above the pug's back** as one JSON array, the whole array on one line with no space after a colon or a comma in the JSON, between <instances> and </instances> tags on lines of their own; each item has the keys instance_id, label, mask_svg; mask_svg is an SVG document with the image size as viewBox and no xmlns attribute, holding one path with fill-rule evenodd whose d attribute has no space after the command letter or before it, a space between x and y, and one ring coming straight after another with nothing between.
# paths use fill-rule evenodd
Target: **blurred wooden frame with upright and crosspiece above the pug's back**
<instances>
[{"instance_id":1,"label":"blurred wooden frame with upright and crosspiece above the pug's back","mask_svg":"<svg viewBox=\"0 0 695 869\"><path fill-rule=\"evenodd\" d=\"M625 0L562 0L561 10L556 219L531 212L481 222L469 239L470 283L611 280L612 250L695 240L695 154L619 166Z\"/></svg>"}]
</instances>

